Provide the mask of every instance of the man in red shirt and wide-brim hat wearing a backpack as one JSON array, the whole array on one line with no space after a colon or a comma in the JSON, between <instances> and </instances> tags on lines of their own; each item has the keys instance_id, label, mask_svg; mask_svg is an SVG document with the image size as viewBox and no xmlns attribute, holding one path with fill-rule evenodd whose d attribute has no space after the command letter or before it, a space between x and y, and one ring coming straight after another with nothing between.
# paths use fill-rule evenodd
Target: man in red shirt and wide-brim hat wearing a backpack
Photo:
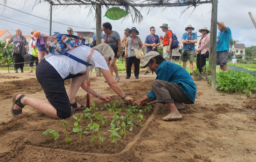
<instances>
[{"instance_id":1,"label":"man in red shirt and wide-brim hat wearing a backpack","mask_svg":"<svg viewBox=\"0 0 256 162\"><path fill-rule=\"evenodd\" d=\"M168 24L167 23L163 23L162 26L160 26L162 28L162 31L165 32L164 38L163 38L163 57L165 58L165 60L170 61L170 56L172 53L172 31L169 30L168 28Z\"/></svg>"}]
</instances>

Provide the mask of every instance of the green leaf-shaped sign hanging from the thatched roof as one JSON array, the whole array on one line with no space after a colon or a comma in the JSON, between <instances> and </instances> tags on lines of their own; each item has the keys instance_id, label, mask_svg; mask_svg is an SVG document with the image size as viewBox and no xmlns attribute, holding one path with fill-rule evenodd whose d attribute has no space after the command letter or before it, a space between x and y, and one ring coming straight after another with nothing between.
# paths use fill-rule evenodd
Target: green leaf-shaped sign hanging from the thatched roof
<instances>
[{"instance_id":1,"label":"green leaf-shaped sign hanging from the thatched roof","mask_svg":"<svg viewBox=\"0 0 256 162\"><path fill-rule=\"evenodd\" d=\"M128 13L130 13L130 12L127 12L127 11L121 9L121 8L118 8L118 7L112 7L112 8L109 8L106 11L104 16L106 16L109 19L117 20L117 19L120 19L120 18L124 17Z\"/></svg>"}]
</instances>

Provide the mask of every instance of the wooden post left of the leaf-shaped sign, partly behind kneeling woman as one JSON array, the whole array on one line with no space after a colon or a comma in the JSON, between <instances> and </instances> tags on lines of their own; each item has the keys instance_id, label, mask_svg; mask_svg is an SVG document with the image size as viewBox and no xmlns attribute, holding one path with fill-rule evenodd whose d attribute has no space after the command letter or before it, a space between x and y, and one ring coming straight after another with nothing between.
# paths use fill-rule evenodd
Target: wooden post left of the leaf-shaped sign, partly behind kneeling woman
<instances>
[{"instance_id":1,"label":"wooden post left of the leaf-shaped sign, partly behind kneeling woman","mask_svg":"<svg viewBox=\"0 0 256 162\"><path fill-rule=\"evenodd\" d=\"M101 5L96 5L96 43L101 43ZM96 68L96 76L101 76L99 68Z\"/></svg>"}]
</instances>

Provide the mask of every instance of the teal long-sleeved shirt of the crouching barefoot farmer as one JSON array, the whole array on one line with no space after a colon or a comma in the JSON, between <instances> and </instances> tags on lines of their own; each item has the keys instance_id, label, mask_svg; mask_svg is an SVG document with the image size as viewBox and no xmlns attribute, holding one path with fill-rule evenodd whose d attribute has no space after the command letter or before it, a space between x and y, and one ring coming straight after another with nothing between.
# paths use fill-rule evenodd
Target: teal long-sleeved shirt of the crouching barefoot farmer
<instances>
[{"instance_id":1,"label":"teal long-sleeved shirt of the crouching barefoot farmer","mask_svg":"<svg viewBox=\"0 0 256 162\"><path fill-rule=\"evenodd\" d=\"M182 66L169 61L163 61L156 69L158 80L164 80L180 84L181 90L195 103L196 84L188 71ZM153 89L147 94L148 97L156 100Z\"/></svg>"}]
</instances>

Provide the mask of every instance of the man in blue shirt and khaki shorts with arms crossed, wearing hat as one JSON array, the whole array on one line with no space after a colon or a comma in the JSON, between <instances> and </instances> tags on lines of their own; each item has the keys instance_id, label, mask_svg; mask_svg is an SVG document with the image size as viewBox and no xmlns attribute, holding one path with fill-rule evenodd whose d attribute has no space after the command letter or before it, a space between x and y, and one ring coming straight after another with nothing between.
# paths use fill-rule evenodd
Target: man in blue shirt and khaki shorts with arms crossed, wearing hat
<instances>
[{"instance_id":1,"label":"man in blue shirt and khaki shorts with arms crossed, wearing hat","mask_svg":"<svg viewBox=\"0 0 256 162\"><path fill-rule=\"evenodd\" d=\"M185 28L187 32L182 35L182 42L183 42L183 50L181 51L181 57L183 64L182 66L186 68L187 61L189 58L190 62L190 75L193 75L193 68L194 68L194 57L195 57L195 43L197 42L197 34L192 32L195 28L191 25Z\"/></svg>"}]
</instances>

